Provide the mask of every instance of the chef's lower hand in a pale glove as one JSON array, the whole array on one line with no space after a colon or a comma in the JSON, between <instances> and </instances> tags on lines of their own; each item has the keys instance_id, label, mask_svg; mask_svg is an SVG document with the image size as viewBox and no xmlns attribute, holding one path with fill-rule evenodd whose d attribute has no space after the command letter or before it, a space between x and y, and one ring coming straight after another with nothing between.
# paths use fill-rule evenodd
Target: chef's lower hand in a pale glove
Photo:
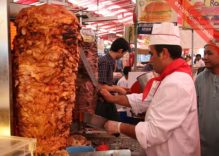
<instances>
[{"instance_id":1,"label":"chef's lower hand in a pale glove","mask_svg":"<svg viewBox=\"0 0 219 156\"><path fill-rule=\"evenodd\" d=\"M121 122L108 120L105 123L104 128L109 134L118 134L120 133L120 124Z\"/></svg>"}]
</instances>

